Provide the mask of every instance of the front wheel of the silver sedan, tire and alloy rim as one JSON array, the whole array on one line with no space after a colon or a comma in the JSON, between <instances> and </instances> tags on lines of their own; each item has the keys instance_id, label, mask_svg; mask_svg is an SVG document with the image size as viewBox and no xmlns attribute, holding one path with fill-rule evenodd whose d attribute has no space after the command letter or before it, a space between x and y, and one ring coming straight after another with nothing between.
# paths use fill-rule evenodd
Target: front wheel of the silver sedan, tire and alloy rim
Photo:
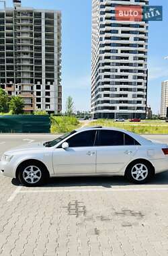
<instances>
[{"instance_id":1,"label":"front wheel of the silver sedan, tire and alloy rim","mask_svg":"<svg viewBox=\"0 0 168 256\"><path fill-rule=\"evenodd\" d=\"M19 166L18 179L26 187L37 187L48 181L49 174L43 164L27 161Z\"/></svg>"}]
</instances>

